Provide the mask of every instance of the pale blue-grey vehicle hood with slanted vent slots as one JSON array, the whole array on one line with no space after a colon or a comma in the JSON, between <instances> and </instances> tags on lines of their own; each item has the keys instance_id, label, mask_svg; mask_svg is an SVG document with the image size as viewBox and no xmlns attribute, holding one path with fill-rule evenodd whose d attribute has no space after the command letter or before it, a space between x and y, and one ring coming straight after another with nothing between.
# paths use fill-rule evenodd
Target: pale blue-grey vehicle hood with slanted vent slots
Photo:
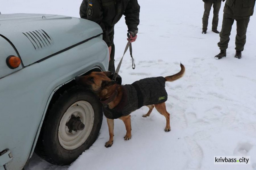
<instances>
[{"instance_id":1,"label":"pale blue-grey vehicle hood with slanted vent slots","mask_svg":"<svg viewBox=\"0 0 256 170\"><path fill-rule=\"evenodd\" d=\"M101 34L97 23L81 18L51 14L0 15L0 36L17 49L25 67Z\"/></svg>"}]
</instances>

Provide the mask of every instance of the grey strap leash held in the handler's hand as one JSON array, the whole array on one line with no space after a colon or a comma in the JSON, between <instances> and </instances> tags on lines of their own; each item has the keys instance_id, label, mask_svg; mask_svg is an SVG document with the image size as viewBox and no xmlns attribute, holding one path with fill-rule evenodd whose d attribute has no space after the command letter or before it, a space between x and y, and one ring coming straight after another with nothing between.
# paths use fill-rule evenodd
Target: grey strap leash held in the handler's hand
<instances>
[{"instance_id":1,"label":"grey strap leash held in the handler's hand","mask_svg":"<svg viewBox=\"0 0 256 170\"><path fill-rule=\"evenodd\" d=\"M132 35L132 37L134 37L137 33L138 33L137 30L135 30L134 33L133 33L133 32L128 32L128 33L127 33L127 37L130 38L130 34ZM127 44L126 44L126 47L125 47L124 54L123 54L123 56L122 56L122 58L121 58L121 60L120 60L120 62L119 62L119 64L118 64L118 66L117 66L117 68L116 68L116 71L115 71L115 73L114 73L114 76L113 76L113 78L112 78L112 81L116 81L116 77L117 77L118 72L119 72L119 70L120 70L120 67L121 67L121 64L122 64L124 55L125 55L126 51L128 50L128 47L130 47L129 49L130 49L130 55L131 55L131 60L132 60L132 69L135 69L134 59L133 59L133 56L132 56L132 47L131 47L130 41L128 41Z\"/></svg>"}]
</instances>

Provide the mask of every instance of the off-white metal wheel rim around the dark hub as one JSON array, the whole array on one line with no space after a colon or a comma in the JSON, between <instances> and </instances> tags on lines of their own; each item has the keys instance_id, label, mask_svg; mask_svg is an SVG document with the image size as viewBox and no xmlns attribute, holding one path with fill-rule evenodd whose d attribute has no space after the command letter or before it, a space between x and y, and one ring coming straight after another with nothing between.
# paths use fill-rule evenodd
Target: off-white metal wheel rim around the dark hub
<instances>
[{"instance_id":1,"label":"off-white metal wheel rim around the dark hub","mask_svg":"<svg viewBox=\"0 0 256 170\"><path fill-rule=\"evenodd\" d=\"M82 131L72 131L69 133L69 128L66 123L71 118L71 115L75 117L80 117L82 123L85 127ZM73 150L80 147L89 137L94 124L94 109L93 106L84 100L77 101L73 103L67 111L63 114L59 129L58 129L58 139L60 145L67 150Z\"/></svg>"}]
</instances>

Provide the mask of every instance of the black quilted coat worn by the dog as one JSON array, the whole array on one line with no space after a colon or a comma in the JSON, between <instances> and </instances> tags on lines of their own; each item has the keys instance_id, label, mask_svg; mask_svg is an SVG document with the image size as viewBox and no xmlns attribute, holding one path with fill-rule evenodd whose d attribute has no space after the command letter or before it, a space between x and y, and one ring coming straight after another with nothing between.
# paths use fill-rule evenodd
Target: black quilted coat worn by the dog
<instances>
[{"instance_id":1,"label":"black quilted coat worn by the dog","mask_svg":"<svg viewBox=\"0 0 256 170\"><path fill-rule=\"evenodd\" d=\"M146 78L132 84L122 85L124 94L120 103L113 109L103 106L104 115L109 119L127 116L138 108L167 101L165 78Z\"/></svg>"}]
</instances>

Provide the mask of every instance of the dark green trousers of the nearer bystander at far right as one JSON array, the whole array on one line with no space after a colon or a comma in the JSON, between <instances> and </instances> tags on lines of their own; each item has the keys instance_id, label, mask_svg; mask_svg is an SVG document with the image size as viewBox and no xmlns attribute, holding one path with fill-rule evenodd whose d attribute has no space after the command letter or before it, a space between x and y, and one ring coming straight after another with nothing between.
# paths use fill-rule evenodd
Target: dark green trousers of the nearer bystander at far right
<instances>
[{"instance_id":1,"label":"dark green trousers of the nearer bystander at far right","mask_svg":"<svg viewBox=\"0 0 256 170\"><path fill-rule=\"evenodd\" d=\"M236 50L243 51L244 45L246 43L246 31L248 27L248 23L250 21L249 18L245 19L236 19L237 21L237 35L236 35ZM218 47L221 50L226 50L228 48L228 42L230 40L230 32L232 29L232 25L234 23L234 19L224 13L223 21L222 21L222 29L221 33L219 34L220 41L218 43Z\"/></svg>"}]
</instances>

